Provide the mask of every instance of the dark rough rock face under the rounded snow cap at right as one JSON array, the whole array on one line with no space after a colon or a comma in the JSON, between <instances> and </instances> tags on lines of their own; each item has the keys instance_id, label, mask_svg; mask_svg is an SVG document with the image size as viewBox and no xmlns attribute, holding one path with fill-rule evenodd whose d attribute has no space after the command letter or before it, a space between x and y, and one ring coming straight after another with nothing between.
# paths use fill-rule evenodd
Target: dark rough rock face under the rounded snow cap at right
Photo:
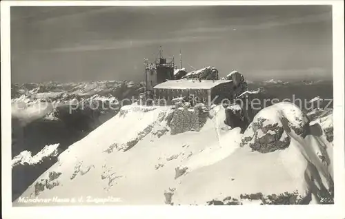
<instances>
[{"instance_id":1,"label":"dark rough rock face under the rounded snow cap at right","mask_svg":"<svg viewBox=\"0 0 345 219\"><path fill-rule=\"evenodd\" d=\"M268 153L277 149L284 149L290 145L290 137L285 133L282 125L278 123L264 125L266 118L258 118L250 124L248 132L254 135L244 136L241 146L248 144L257 152Z\"/></svg>"}]
</instances>

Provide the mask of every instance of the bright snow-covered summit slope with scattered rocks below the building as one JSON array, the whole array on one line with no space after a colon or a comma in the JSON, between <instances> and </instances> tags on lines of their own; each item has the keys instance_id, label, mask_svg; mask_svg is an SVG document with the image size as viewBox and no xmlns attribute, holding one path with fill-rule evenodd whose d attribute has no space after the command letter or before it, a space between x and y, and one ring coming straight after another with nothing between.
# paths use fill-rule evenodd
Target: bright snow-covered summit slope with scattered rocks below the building
<instances>
[{"instance_id":1,"label":"bright snow-covered summit slope with scattered rocks below the building","mask_svg":"<svg viewBox=\"0 0 345 219\"><path fill-rule=\"evenodd\" d=\"M172 135L172 111L122 107L70 145L13 205L331 202L333 143L326 130L332 114L309 126L295 105L277 103L240 134L216 106L200 130Z\"/></svg>"}]
</instances>

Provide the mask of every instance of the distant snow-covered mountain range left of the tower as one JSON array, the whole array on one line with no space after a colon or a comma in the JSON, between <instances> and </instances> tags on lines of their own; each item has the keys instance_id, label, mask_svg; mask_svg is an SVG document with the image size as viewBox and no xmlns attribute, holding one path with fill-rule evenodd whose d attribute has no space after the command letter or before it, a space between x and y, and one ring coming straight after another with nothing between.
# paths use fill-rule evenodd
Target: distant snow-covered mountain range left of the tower
<instances>
[{"instance_id":1,"label":"distant snow-covered mountain range left of the tower","mask_svg":"<svg viewBox=\"0 0 345 219\"><path fill-rule=\"evenodd\" d=\"M132 81L13 84L12 116L29 122L44 116L52 120L56 119L54 110L58 107L77 103L87 107L95 101L117 105L121 98L138 96L143 87L142 83Z\"/></svg>"}]
</instances>

